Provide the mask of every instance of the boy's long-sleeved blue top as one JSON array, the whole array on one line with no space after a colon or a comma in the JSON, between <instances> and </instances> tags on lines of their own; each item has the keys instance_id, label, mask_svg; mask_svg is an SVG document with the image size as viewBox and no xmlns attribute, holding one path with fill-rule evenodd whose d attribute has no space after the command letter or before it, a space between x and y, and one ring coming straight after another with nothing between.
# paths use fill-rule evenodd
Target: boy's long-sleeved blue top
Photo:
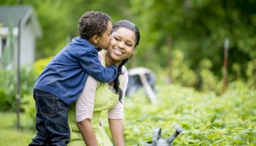
<instances>
[{"instance_id":1,"label":"boy's long-sleeved blue top","mask_svg":"<svg viewBox=\"0 0 256 146\"><path fill-rule=\"evenodd\" d=\"M49 92L70 105L80 96L88 74L99 82L112 82L117 67L103 67L95 46L80 37L73 38L43 69L34 89Z\"/></svg>"}]
</instances>

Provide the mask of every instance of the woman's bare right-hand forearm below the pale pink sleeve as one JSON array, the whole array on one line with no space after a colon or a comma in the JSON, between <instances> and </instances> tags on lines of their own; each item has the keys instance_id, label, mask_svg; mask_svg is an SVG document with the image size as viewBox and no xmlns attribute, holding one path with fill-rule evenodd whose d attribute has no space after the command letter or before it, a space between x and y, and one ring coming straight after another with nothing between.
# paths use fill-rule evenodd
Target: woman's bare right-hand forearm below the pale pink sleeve
<instances>
[{"instance_id":1,"label":"woman's bare right-hand forearm below the pale pink sleeve","mask_svg":"<svg viewBox=\"0 0 256 146\"><path fill-rule=\"evenodd\" d=\"M124 145L124 123L122 119L109 118L109 125L115 146Z\"/></svg>"}]
</instances>

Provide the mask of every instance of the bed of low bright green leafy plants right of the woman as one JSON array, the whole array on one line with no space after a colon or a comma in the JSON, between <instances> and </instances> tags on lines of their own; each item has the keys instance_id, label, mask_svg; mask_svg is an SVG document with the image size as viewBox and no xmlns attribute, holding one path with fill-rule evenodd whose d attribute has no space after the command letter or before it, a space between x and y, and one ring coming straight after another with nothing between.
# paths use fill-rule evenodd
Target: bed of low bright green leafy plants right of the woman
<instances>
[{"instance_id":1,"label":"bed of low bright green leafy plants right of the woman","mask_svg":"<svg viewBox=\"0 0 256 146\"><path fill-rule=\"evenodd\" d=\"M176 85L156 86L156 90L156 105L143 92L125 99L127 145L151 140L156 127L167 138L176 123L184 132L174 145L256 145L256 91L246 84L234 82L221 96Z\"/></svg>"}]
</instances>

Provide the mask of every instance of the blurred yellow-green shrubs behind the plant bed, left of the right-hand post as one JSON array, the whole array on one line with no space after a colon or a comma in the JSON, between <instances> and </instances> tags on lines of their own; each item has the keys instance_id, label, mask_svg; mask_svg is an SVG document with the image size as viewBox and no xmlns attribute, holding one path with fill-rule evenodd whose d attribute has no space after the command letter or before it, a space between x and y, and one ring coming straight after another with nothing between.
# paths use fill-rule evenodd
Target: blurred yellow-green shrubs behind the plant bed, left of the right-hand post
<instances>
[{"instance_id":1,"label":"blurred yellow-green shrubs behind the plant bed, left of the right-hand post","mask_svg":"<svg viewBox=\"0 0 256 146\"><path fill-rule=\"evenodd\" d=\"M171 68L161 69L157 66L154 68L157 75L156 84L169 84L171 80L171 84L193 87L198 91L215 91L220 94L222 82L211 71L213 63L210 60L201 60L198 69L193 70L188 67L181 50L174 50L171 57Z\"/></svg>"}]
</instances>

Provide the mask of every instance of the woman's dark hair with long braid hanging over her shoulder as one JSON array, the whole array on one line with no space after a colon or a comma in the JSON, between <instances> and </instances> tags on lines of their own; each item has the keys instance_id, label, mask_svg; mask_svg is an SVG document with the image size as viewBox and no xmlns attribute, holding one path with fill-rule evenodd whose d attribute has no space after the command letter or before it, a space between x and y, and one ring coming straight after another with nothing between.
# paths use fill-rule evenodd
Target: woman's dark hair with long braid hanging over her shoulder
<instances>
[{"instance_id":1,"label":"woman's dark hair with long braid hanging over her shoulder","mask_svg":"<svg viewBox=\"0 0 256 146\"><path fill-rule=\"evenodd\" d=\"M140 39L140 33L139 33L139 28L137 28L137 26L135 26L134 23L130 22L130 21L127 21L127 20L121 20L121 21L117 21L115 23L113 23L113 28L112 28L112 32L115 32L117 31L119 28L127 28L129 30L132 30L135 34L135 45L134 45L134 50L137 49L137 45L139 45L139 39ZM132 56L131 56L132 57ZM120 74L123 74L122 73L122 66L127 63L129 61L129 59L131 58L127 58L125 60L122 60L121 64L119 64L118 66L118 70L117 70L117 78L114 79L114 89L115 91L117 91L117 94L119 95L119 101L122 103L122 95L123 95L123 92L122 92L122 89L119 88L119 75Z\"/></svg>"}]
</instances>

